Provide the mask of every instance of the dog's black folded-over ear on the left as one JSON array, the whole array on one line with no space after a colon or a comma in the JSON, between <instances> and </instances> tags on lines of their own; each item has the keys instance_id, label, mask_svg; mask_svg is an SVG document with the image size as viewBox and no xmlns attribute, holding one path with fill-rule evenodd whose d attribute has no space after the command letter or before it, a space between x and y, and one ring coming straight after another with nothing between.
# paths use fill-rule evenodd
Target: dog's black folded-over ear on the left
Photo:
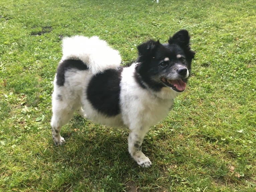
<instances>
[{"instance_id":1,"label":"dog's black folded-over ear on the left","mask_svg":"<svg viewBox=\"0 0 256 192\"><path fill-rule=\"evenodd\" d=\"M140 44L137 49L139 51L139 57L148 58L154 56L157 47L160 45L159 40L149 40L145 43Z\"/></svg>"}]
</instances>

